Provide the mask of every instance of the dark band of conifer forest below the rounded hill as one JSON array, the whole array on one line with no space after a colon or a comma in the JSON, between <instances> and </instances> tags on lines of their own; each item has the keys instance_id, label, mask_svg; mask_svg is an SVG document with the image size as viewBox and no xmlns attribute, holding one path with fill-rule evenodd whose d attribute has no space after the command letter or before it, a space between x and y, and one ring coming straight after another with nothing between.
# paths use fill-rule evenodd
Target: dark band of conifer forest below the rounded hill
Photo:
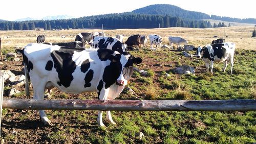
<instances>
[{"instance_id":1,"label":"dark band of conifer forest below the rounded hill","mask_svg":"<svg viewBox=\"0 0 256 144\"><path fill-rule=\"evenodd\" d=\"M35 30L35 28L44 28L45 30L93 29L101 28L102 25L104 29L212 28L209 21L128 12L58 20L1 21L0 30Z\"/></svg>"}]
</instances>

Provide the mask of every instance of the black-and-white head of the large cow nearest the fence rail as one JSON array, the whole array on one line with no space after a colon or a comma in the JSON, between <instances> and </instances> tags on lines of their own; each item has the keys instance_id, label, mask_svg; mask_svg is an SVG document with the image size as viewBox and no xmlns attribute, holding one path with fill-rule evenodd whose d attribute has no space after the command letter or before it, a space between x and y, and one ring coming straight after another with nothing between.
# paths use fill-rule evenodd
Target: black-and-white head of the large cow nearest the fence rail
<instances>
[{"instance_id":1,"label":"black-and-white head of the large cow nearest the fence rail","mask_svg":"<svg viewBox=\"0 0 256 144\"><path fill-rule=\"evenodd\" d=\"M116 80L116 84L120 86L127 85L133 74L133 64L139 64L141 62L141 58L135 58L129 52L123 52L120 56L121 73Z\"/></svg>"}]
</instances>

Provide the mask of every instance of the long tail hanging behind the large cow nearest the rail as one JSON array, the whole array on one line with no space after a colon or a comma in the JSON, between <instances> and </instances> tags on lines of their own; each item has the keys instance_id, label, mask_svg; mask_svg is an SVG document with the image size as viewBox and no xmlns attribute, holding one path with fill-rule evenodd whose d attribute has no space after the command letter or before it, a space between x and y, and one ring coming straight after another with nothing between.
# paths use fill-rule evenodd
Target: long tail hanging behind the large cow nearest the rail
<instances>
[{"instance_id":1,"label":"long tail hanging behind the large cow nearest the rail","mask_svg":"<svg viewBox=\"0 0 256 144\"><path fill-rule=\"evenodd\" d=\"M28 73L28 67L27 67L27 63L24 61L24 49L20 50L20 49L16 49L15 52L17 54L22 54L23 56L23 64L24 64L24 73L25 73L25 78L26 78L26 83L25 83L25 91L26 91L26 96L28 99L30 99L30 91L29 91L29 73Z\"/></svg>"}]
</instances>

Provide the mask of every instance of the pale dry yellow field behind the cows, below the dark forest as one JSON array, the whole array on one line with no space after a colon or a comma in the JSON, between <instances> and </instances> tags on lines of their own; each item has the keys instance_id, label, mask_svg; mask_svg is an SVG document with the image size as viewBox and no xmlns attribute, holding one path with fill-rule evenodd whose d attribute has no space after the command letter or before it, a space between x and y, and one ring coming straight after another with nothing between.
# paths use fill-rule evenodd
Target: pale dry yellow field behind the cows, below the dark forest
<instances>
[{"instance_id":1,"label":"pale dry yellow field behind the cows, below the dark forest","mask_svg":"<svg viewBox=\"0 0 256 144\"><path fill-rule=\"evenodd\" d=\"M130 35L140 34L159 34L163 37L163 44L168 43L168 36L182 36L188 39L189 44L199 46L211 43L212 40L225 38L226 41L234 42L237 49L255 50L256 38L251 38L254 27L227 27L227 28L210 28L210 29L193 29L193 28L161 28L161 29L118 29L103 30L107 36L114 37L116 34L124 35L124 40ZM73 41L76 34L80 32L96 32L102 30L62 30L62 31L0 31L2 46L4 49L10 49L14 46L25 46L30 42L36 42L39 34L46 35L47 42L64 42ZM225 33L224 33L225 31ZM9 37L5 38L4 37ZM61 38L60 36L66 36ZM228 38L226 38L228 36Z\"/></svg>"}]
</instances>

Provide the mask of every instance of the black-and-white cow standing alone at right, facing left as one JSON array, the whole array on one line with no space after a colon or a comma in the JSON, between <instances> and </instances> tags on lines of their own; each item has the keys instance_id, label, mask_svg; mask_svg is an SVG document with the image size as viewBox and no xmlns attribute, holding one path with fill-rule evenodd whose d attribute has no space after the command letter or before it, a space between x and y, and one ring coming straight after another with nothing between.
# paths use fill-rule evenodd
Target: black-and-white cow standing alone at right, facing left
<instances>
[{"instance_id":1,"label":"black-and-white cow standing alone at right, facing left","mask_svg":"<svg viewBox=\"0 0 256 144\"><path fill-rule=\"evenodd\" d=\"M232 42L223 42L217 44L207 44L206 46L199 46L197 49L197 57L203 58L203 61L206 65L206 70L212 73L212 68L214 67L214 62L225 62L223 67L223 72L226 70L228 62L231 64L231 72L233 69L233 58L234 58L234 49L236 49L236 44Z\"/></svg>"}]
</instances>

